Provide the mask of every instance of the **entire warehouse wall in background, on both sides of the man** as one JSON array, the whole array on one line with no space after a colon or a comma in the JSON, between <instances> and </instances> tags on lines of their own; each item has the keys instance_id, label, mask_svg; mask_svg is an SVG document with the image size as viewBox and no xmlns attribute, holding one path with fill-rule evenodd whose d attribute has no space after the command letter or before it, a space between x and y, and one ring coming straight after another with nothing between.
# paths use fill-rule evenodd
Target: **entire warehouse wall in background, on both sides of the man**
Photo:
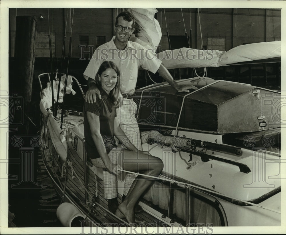
<instances>
[{"instance_id":1,"label":"entire warehouse wall in background, on both sides of the man","mask_svg":"<svg viewBox=\"0 0 286 235\"><path fill-rule=\"evenodd\" d=\"M265 41L281 40L281 10L279 9L162 9L157 8L155 17L162 30L160 49L169 49L167 29L174 40L182 39L185 32L192 48L229 50L238 45ZM17 8L10 13L10 56L14 55L16 15L34 15L37 21L36 56L49 57L48 34L52 39L52 55L61 57L63 38L66 28L64 56L68 55L70 26L72 23L72 57L82 57L79 36L88 36L88 44L97 45L97 36L105 36L106 42L114 35L114 23L117 13L115 8L80 8L74 9L74 17L69 9L63 8ZM49 12L49 14L48 14ZM40 18L40 15L43 18ZM68 17L67 17L68 15ZM165 20L166 19L166 20ZM201 27L200 27L201 26ZM202 36L200 34L202 32ZM201 43L201 37L203 45ZM180 43L173 43L176 46ZM172 46L172 43L171 43ZM188 45L183 45L188 47ZM85 48L89 50L88 47Z\"/></svg>"}]
</instances>

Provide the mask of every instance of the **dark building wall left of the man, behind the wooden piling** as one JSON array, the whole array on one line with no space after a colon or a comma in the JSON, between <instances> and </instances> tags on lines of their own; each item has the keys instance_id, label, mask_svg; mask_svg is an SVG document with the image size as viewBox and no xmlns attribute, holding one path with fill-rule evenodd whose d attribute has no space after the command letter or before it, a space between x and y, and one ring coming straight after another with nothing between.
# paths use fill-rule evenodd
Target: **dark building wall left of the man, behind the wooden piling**
<instances>
[{"instance_id":1,"label":"dark building wall left of the man, behind the wooden piling","mask_svg":"<svg viewBox=\"0 0 286 235\"><path fill-rule=\"evenodd\" d=\"M16 15L33 15L38 17L37 38L36 38L36 57L49 57L48 35L52 38L52 55L61 57L63 39L65 39L64 56L68 56L69 38L72 36L72 57L81 57L81 47L79 47L79 36L88 36L89 45L97 44L97 36L105 36L106 41L110 41L114 34L113 18L114 9L100 8L78 8L73 9L70 14L69 9L63 8L17 8L9 9L10 13L10 35L11 35L11 56L14 56ZM42 16L43 18L40 18ZM72 30L71 30L72 24ZM71 34L72 31L72 34ZM45 46L44 46L45 44ZM86 48L88 50L88 48Z\"/></svg>"}]
</instances>

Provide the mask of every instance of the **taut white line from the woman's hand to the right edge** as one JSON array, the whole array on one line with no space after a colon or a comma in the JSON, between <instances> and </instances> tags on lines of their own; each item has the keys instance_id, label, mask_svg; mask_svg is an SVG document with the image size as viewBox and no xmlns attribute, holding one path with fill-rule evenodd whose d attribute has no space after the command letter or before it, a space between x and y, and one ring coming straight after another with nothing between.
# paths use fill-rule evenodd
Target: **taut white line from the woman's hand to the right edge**
<instances>
[{"instance_id":1,"label":"taut white line from the woman's hand to the right edge","mask_svg":"<svg viewBox=\"0 0 286 235\"><path fill-rule=\"evenodd\" d=\"M136 173L136 172L126 171L126 170L119 170L119 171L126 172L126 173L131 173L131 174ZM163 179L161 179L160 177L156 177L156 176L144 175L144 174L140 174L140 173L138 173L138 175L140 175L140 176L146 176L146 177L153 178L153 179L156 179L156 180L163 180ZM160 175L160 176L161 176L161 177L168 178L168 177L166 177L166 176L162 176L162 175ZM166 180L166 181L170 181L170 180ZM171 181L170 181L170 182L171 182ZM209 190L209 189L207 189L207 188L202 188L202 187L200 187L200 186L196 186L196 185L191 184L191 183L183 183L183 182L176 181L176 180L174 180L174 182L175 182L176 184L180 184L180 185L183 185L183 186L187 186L187 185L188 185L188 186L190 186L190 187L192 187L192 188L194 188L194 189L196 189L196 190L199 190L200 192L204 192L204 193L210 192L210 194L206 193L206 194L208 194L208 195L210 195L210 196L214 196L214 195L212 195L212 194L215 193L215 194L218 194L218 195L220 195L220 196L223 196L223 197L226 197L226 198L229 198L229 199L234 199L234 200L243 202L243 203L245 203L245 204L249 204L249 205L251 205L251 206L256 206L256 207L259 207L259 208L261 208L261 209L265 209L265 210L269 210L269 211L272 211L272 212L281 214L280 211L273 210L273 209L271 209L271 208L267 208L267 207L264 207L264 206L260 206L260 205L257 205L257 204L255 204L255 203L248 202L248 201L245 201L245 200L233 198L233 197L227 196L227 195L225 195L225 194L221 194L221 193L219 193L219 192ZM215 197L216 197L216 196L215 196Z\"/></svg>"}]
</instances>

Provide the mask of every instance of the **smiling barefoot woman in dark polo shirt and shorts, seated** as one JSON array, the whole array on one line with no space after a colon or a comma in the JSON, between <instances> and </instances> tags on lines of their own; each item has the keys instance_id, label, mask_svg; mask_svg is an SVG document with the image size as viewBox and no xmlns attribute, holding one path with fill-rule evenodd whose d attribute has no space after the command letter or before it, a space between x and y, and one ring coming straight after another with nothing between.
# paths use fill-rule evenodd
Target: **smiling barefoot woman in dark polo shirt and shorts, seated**
<instances>
[{"instance_id":1,"label":"smiling barefoot woman in dark polo shirt and shorts, seated","mask_svg":"<svg viewBox=\"0 0 286 235\"><path fill-rule=\"evenodd\" d=\"M112 61L104 61L100 65L95 79L102 98L96 99L95 103L84 103L84 136L87 156L94 166L107 168L115 175L119 175L122 169L144 171L143 174L147 175L134 180L115 213L119 217L125 216L129 223L135 223L134 206L153 181L148 176L159 176L163 162L148 152L138 150L121 130L115 109L120 105L119 77L120 71ZM130 151L117 148L114 136Z\"/></svg>"}]
</instances>

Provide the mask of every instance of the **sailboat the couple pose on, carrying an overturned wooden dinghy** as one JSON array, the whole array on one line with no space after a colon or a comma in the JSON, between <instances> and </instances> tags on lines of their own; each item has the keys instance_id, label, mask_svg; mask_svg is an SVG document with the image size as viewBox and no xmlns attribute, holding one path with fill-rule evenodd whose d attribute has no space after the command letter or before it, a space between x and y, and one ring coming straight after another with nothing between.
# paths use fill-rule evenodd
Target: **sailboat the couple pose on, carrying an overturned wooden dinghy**
<instances>
[{"instance_id":1,"label":"sailboat the couple pose on, carrying an overturned wooden dinghy","mask_svg":"<svg viewBox=\"0 0 286 235\"><path fill-rule=\"evenodd\" d=\"M136 15L139 9L131 10L136 21L140 20L142 12ZM157 30L155 10L147 9L149 14L145 15ZM143 26L142 32L146 33ZM141 41L151 48L155 45L151 39ZM273 53L267 55L279 57L278 43L268 45ZM249 51L251 45L247 47ZM257 44L251 48L257 50ZM214 51L212 60L207 61L209 66L241 62L231 57L241 47L232 50ZM264 59L261 56L249 61ZM195 59L181 62L163 61L167 68L197 63ZM206 67L204 62L188 67ZM83 86L73 76L61 76L69 79L70 92L76 84ZM41 153L63 202L57 212L59 220L64 226L130 226L108 211L102 169L86 158L83 113L61 110L62 120L61 113L53 115L53 77L57 76L39 75L40 84L48 80L47 87L41 87ZM145 220L142 226L280 226L281 93L199 76L177 83L198 89L178 93L163 82L140 88L134 94L143 150L164 162L162 174L139 202L144 212L136 216ZM84 94L82 88L80 91ZM117 182L119 202L123 176Z\"/></svg>"}]
</instances>

